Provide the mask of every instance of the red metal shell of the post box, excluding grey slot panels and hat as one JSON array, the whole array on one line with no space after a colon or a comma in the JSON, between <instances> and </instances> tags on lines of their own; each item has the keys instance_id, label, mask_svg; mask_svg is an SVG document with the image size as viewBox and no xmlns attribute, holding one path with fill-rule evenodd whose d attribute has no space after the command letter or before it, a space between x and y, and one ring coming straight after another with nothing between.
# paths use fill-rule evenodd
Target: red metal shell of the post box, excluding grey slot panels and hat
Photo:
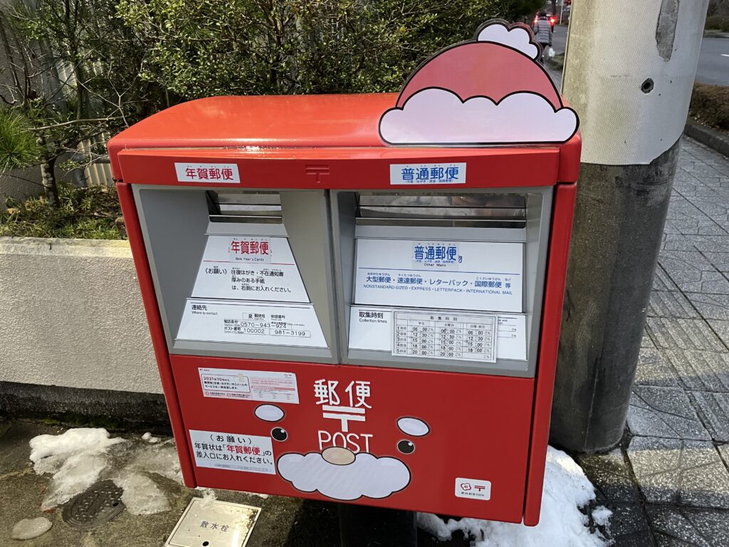
<instances>
[{"instance_id":1,"label":"red metal shell of the post box, excluding grey slot panels and hat","mask_svg":"<svg viewBox=\"0 0 729 547\"><path fill-rule=\"evenodd\" d=\"M389 94L207 98L149 117L109 143L184 481L187 486L534 525L542 495L580 136L575 134L565 144L531 147L387 147L378 136L378 120L395 98ZM553 188L533 377L171 352L134 187L407 192L408 187L391 185L390 166L421 162L466 164L468 178L459 186L464 191ZM184 182L176 163L233 165L239 182L223 182L217 172L214 180ZM453 186L435 184L427 190L452 191ZM168 206L174 211L175 201ZM254 416L270 398L206 396L200 369L284 375L277 376L273 388L283 417L272 423ZM288 387L286 377L294 378ZM335 401L322 398L321 386L332 385L337 402L348 408L354 421L341 422L340 416L332 419L323 411L322 403ZM366 392L355 391L358 386L367 386ZM286 389L295 392L297 402L284 397ZM330 414L338 411L331 407L327 407ZM426 434L398 427L399 420L408 416L426 423ZM285 441L276 438L275 428L285 430ZM261 440L271 435L272 441ZM405 445L399 444L402 441ZM307 486L304 478L290 481L281 476L278 463L284 454L318 457L332 443L354 454L370 454L362 460L358 475L335 474L327 489ZM202 458L196 453L211 446L214 457L225 454L230 460L222 459L218 466L196 465ZM257 470L242 470L242 464L235 463L225 468L227 462L245 458L258 465ZM407 477L394 478L392 492L383 494L379 486L367 484L380 474L397 475L403 466ZM316 475L319 468L314 466L309 473ZM336 483L341 481L364 484L339 488Z\"/></svg>"}]
</instances>

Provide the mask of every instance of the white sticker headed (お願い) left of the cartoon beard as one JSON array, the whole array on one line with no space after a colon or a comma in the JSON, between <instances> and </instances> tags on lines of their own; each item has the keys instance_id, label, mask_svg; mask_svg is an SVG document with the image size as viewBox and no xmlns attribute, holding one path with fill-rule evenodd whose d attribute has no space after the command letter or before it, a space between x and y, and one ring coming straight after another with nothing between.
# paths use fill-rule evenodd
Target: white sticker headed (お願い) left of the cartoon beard
<instances>
[{"instance_id":1,"label":"white sticker headed (\u304a\u9858\u3044) left of the cartoon beard","mask_svg":"<svg viewBox=\"0 0 729 547\"><path fill-rule=\"evenodd\" d=\"M276 474L268 436L190 430L190 443L198 468Z\"/></svg>"}]
</instances>

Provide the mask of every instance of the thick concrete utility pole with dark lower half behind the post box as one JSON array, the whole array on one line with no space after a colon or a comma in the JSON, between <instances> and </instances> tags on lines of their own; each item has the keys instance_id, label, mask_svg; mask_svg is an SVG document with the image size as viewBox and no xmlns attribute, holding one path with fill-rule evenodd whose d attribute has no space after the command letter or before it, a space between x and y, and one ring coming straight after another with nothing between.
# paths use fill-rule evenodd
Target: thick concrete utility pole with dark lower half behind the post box
<instances>
[{"instance_id":1,"label":"thick concrete utility pole with dark lower half behind the post box","mask_svg":"<svg viewBox=\"0 0 729 547\"><path fill-rule=\"evenodd\" d=\"M708 0L572 4L562 91L582 164L550 441L623 435Z\"/></svg>"}]
</instances>

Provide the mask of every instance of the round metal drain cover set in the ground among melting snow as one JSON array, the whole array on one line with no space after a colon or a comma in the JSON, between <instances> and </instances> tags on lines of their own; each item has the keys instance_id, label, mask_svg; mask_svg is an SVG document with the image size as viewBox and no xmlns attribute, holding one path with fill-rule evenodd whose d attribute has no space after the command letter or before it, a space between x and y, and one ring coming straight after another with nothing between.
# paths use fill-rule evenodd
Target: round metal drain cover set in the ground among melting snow
<instances>
[{"instance_id":1,"label":"round metal drain cover set in the ground among melting snow","mask_svg":"<svg viewBox=\"0 0 729 547\"><path fill-rule=\"evenodd\" d=\"M63 521L72 528L93 528L112 520L124 510L122 492L112 481L92 484L63 506Z\"/></svg>"}]
</instances>

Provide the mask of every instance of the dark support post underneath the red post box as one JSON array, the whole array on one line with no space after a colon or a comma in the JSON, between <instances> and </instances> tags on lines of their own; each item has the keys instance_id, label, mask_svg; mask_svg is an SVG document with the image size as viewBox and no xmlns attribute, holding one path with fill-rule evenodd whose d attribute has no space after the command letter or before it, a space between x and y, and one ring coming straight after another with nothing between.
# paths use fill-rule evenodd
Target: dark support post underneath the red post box
<instances>
[{"instance_id":1,"label":"dark support post underneath the red post box","mask_svg":"<svg viewBox=\"0 0 729 547\"><path fill-rule=\"evenodd\" d=\"M417 547L416 513L339 504L342 547Z\"/></svg>"}]
</instances>

